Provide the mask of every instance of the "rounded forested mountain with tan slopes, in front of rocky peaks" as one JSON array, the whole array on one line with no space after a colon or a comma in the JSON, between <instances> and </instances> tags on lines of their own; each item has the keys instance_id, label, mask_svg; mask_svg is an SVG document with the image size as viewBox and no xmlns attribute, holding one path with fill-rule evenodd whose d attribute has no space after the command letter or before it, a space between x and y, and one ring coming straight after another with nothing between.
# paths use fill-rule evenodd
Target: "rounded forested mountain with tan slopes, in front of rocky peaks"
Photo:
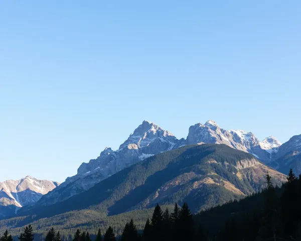
<instances>
[{"instance_id":1,"label":"rounded forested mountain with tan slopes, in front of rocky peaks","mask_svg":"<svg viewBox=\"0 0 301 241\"><path fill-rule=\"evenodd\" d=\"M196 213L261 190L267 173L278 185L286 180L246 152L226 145L186 145L133 164L67 200L21 208L18 214L41 218L89 208L113 215L185 201Z\"/></svg>"}]
</instances>

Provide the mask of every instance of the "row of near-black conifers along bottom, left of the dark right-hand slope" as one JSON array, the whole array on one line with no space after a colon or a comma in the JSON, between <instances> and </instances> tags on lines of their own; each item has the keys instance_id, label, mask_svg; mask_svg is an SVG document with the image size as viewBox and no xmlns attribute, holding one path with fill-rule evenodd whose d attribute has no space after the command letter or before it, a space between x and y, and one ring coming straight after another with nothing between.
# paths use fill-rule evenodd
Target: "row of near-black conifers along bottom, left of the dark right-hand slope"
<instances>
[{"instance_id":1,"label":"row of near-black conifers along bottom, left of the dark right-hand slope","mask_svg":"<svg viewBox=\"0 0 301 241\"><path fill-rule=\"evenodd\" d=\"M201 230L201 229L200 229ZM134 224L133 219L127 222L123 228L122 234L116 237L113 232L113 228L109 226L104 235L102 235L100 229L95 237L95 241L163 241L163 240L202 240L197 239L199 233L194 233L194 220L193 215L188 207L187 203L184 203L182 207L176 203L172 213L168 208L163 212L161 206L157 204L154 209L152 218L147 218L142 232L139 232ZM5 232L8 236L8 231ZM12 241L11 239L0 239L0 241ZM18 237L22 241L33 241L35 238L33 228L28 225L24 228L24 231ZM92 241L89 232L80 231L79 229L73 235L73 241ZM205 239L204 239L205 240ZM45 241L62 241L60 232L56 232L54 228L51 228Z\"/></svg>"}]
</instances>

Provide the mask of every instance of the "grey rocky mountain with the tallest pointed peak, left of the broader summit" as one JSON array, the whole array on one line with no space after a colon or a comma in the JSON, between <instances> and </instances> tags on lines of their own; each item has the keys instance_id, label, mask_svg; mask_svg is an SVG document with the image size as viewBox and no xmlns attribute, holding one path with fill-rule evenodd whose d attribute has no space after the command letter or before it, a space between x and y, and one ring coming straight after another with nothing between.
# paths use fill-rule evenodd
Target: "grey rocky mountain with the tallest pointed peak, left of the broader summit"
<instances>
[{"instance_id":1,"label":"grey rocky mountain with the tallest pointed peak, left of the broader summit","mask_svg":"<svg viewBox=\"0 0 301 241\"><path fill-rule=\"evenodd\" d=\"M39 204L50 205L66 200L134 163L177 148L182 142L184 140L178 140L169 131L143 121L118 150L105 148L98 158L82 163L75 176L67 178L58 188L41 198Z\"/></svg>"}]
</instances>

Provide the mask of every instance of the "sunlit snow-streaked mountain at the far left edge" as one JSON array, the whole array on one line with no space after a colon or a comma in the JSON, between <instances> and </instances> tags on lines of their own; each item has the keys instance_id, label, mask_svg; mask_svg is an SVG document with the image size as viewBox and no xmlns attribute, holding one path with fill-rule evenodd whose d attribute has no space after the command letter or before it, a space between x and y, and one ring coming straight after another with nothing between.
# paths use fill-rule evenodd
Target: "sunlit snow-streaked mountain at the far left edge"
<instances>
[{"instance_id":1,"label":"sunlit snow-streaked mountain at the far left edge","mask_svg":"<svg viewBox=\"0 0 301 241\"><path fill-rule=\"evenodd\" d=\"M58 182L38 180L31 176L0 182L0 216L13 215L19 208L36 203L59 185Z\"/></svg>"}]
</instances>

